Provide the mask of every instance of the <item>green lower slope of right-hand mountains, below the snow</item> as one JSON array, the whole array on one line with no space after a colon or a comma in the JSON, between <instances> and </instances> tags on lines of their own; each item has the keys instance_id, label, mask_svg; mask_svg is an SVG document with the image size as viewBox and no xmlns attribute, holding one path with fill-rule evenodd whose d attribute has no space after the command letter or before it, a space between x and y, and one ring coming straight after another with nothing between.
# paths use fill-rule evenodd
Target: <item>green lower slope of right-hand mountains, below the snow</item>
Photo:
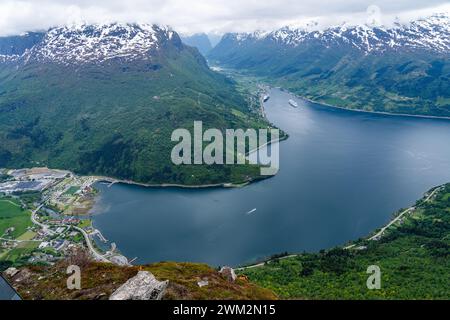
<instances>
[{"instance_id":1,"label":"green lower slope of right-hand mountains, below the snow","mask_svg":"<svg viewBox=\"0 0 450 320\"><path fill-rule=\"evenodd\" d=\"M286 34L289 36L289 31ZM351 45L357 41L355 38L343 42L335 38L321 40L321 33L308 36L298 45L291 45L271 36L229 34L208 59L338 107L450 116L448 51L406 45L390 48L390 41L414 40L401 33L398 38L386 40L384 50L371 51ZM442 37L448 35L442 32ZM420 43L421 39L415 41Z\"/></svg>"}]
</instances>

